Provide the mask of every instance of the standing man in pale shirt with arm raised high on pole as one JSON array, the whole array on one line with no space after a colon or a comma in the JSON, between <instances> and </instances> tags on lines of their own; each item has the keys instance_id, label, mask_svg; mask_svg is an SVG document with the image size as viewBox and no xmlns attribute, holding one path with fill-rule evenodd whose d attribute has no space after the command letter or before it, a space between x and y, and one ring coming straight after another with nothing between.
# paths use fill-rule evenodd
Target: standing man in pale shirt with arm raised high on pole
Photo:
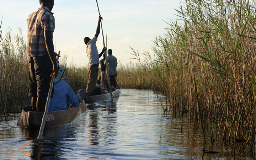
<instances>
[{"instance_id":1,"label":"standing man in pale shirt with arm raised high on pole","mask_svg":"<svg viewBox=\"0 0 256 160\"><path fill-rule=\"evenodd\" d=\"M98 54L98 49L96 46L98 35L100 34L100 22L102 17L98 18L98 25L96 29L95 36L90 39L89 37L84 38L84 43L86 44L86 54L89 58L89 64L87 68L88 72L88 84L86 87L86 95L91 96L92 92L94 91L97 78L98 78L98 65L100 64L100 58L102 54L106 51L106 48L103 48L101 53Z\"/></svg>"}]
</instances>

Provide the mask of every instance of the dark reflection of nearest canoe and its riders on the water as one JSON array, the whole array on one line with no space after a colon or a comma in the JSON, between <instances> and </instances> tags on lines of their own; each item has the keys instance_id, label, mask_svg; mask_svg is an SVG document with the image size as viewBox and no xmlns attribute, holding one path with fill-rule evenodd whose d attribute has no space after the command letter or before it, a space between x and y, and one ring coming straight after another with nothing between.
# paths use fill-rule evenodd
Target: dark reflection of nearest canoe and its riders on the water
<instances>
[{"instance_id":1,"label":"dark reflection of nearest canoe and its riders on the water","mask_svg":"<svg viewBox=\"0 0 256 160\"><path fill-rule=\"evenodd\" d=\"M39 128L20 129L24 137L33 140L31 159L62 159L60 156L64 154L64 149L71 149L67 147L67 142L75 140L75 125L46 127L42 140L37 139Z\"/></svg>"}]
</instances>

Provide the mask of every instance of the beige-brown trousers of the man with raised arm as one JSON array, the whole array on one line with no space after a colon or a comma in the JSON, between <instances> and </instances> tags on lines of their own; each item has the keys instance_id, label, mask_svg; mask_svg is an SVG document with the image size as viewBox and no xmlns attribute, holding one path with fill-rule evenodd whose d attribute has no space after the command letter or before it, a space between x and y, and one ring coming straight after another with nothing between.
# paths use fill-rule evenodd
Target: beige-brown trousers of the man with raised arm
<instances>
[{"instance_id":1,"label":"beige-brown trousers of the man with raised arm","mask_svg":"<svg viewBox=\"0 0 256 160\"><path fill-rule=\"evenodd\" d=\"M94 91L97 78L98 78L98 64L94 64L88 67L88 84L86 87L86 95L90 96L92 92Z\"/></svg>"}]
</instances>

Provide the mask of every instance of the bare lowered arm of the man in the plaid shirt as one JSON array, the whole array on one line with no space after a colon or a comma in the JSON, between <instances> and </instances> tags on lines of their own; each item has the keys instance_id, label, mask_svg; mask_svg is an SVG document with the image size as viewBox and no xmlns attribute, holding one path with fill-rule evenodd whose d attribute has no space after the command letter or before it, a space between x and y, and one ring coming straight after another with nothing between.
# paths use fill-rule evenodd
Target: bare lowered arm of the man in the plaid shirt
<instances>
[{"instance_id":1,"label":"bare lowered arm of the man in the plaid shirt","mask_svg":"<svg viewBox=\"0 0 256 160\"><path fill-rule=\"evenodd\" d=\"M46 49L48 51L48 54L49 54L50 59L53 64L53 73L56 77L58 74L58 69L57 69L57 62L56 62L56 57L55 57L55 52L54 52L52 33L53 33L52 31L44 31L44 41L46 43Z\"/></svg>"}]
</instances>

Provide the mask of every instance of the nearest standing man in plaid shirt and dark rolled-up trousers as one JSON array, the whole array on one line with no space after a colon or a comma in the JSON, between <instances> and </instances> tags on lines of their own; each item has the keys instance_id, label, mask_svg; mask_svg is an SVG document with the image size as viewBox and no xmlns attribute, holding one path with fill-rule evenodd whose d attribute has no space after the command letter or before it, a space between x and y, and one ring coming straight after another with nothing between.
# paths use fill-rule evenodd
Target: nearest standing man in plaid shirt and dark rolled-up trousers
<instances>
[{"instance_id":1,"label":"nearest standing man in plaid shirt and dark rolled-up trousers","mask_svg":"<svg viewBox=\"0 0 256 160\"><path fill-rule=\"evenodd\" d=\"M53 46L55 27L54 0L39 0L41 7L27 18L27 56L29 65L28 96L33 111L44 112L51 75L57 75L57 62Z\"/></svg>"}]
</instances>

